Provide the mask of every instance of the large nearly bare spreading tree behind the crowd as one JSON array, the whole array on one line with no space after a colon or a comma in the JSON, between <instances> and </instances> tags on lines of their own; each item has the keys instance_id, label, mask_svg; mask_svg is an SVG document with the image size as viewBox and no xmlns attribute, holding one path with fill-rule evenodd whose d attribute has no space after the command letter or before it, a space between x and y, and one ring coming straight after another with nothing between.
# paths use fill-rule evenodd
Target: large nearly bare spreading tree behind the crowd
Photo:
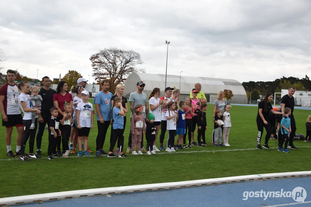
<instances>
[{"instance_id":1,"label":"large nearly bare spreading tree behind the crowd","mask_svg":"<svg viewBox=\"0 0 311 207\"><path fill-rule=\"evenodd\" d=\"M144 62L138 52L133 50L120 50L116 47L99 50L90 57L93 67L93 77L97 82L107 79L111 90L124 81L131 73L144 73L145 69L139 68Z\"/></svg>"}]
</instances>

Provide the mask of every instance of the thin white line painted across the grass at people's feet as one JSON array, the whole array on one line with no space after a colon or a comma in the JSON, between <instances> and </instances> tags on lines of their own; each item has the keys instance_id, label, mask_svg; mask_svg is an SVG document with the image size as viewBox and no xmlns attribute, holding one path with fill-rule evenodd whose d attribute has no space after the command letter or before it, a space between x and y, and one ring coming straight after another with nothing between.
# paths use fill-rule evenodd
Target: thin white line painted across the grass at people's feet
<instances>
[{"instance_id":1,"label":"thin white line painted across the grass at people's feet","mask_svg":"<svg viewBox=\"0 0 311 207\"><path fill-rule=\"evenodd\" d=\"M311 146L299 146L299 148L310 148ZM217 148L216 148L217 149ZM277 149L277 147L271 147L271 149ZM156 153L156 155L166 155L166 154L178 154L178 153L200 153L200 152L230 152L230 151L245 151L245 150L256 150L256 148L248 148L248 149L233 149L233 150L200 150L200 151L191 151L190 149L187 150L178 150L177 152L161 152L161 153ZM266 150L267 151L267 150ZM280 152L281 153L281 152ZM130 156L136 156L136 155L132 155L132 154L127 154ZM143 154L143 155L147 155L147 154ZM154 156L154 155L153 155ZM68 158L85 158L85 157L95 157L95 155L91 155L91 156L82 156L82 157L78 157L78 156L69 156ZM105 155L103 155L102 157L106 157ZM140 157L140 156L137 156ZM60 157L63 158L63 157ZM66 158L66 159L68 159ZM41 159L47 159L47 157L42 157ZM58 158L55 158L58 159ZM8 159L0 159L0 161L12 161L12 160L18 160L18 157L16 156L15 158L8 158ZM30 159L30 160L34 160L34 159ZM53 161L51 161L53 162Z\"/></svg>"}]
</instances>

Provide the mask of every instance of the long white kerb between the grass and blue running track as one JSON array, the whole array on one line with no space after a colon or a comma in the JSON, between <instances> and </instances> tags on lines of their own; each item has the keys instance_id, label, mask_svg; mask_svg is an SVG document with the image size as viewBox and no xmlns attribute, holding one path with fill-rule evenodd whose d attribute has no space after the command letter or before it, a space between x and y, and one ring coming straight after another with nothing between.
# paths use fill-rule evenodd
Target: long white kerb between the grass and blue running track
<instances>
[{"instance_id":1,"label":"long white kerb between the grass and blue running track","mask_svg":"<svg viewBox=\"0 0 311 207\"><path fill-rule=\"evenodd\" d=\"M268 174L261 174L261 175L244 175L244 176L234 176L234 177L227 177L227 178L211 178L211 179L203 179L203 180L165 182L165 183L157 183L157 184L134 185L134 186L123 186L123 187L106 187L106 188L95 188L95 189L88 189L88 190L44 193L44 194L36 194L36 195L29 195L29 196L16 196L16 197L0 198L0 205L24 204L24 203L57 200L57 199L65 199L65 198L108 195L108 194L115 194L115 193L128 193L128 192L139 192L139 191L152 191L152 190L179 188L179 187L194 187L194 186L204 186L204 185L213 185L213 184L221 184L221 183L231 183L231 182L243 182L243 181L252 181L252 180L269 179L269 178L290 178L290 177L303 177L303 176L311 176L311 171L289 172L289 173L268 173Z\"/></svg>"}]
</instances>

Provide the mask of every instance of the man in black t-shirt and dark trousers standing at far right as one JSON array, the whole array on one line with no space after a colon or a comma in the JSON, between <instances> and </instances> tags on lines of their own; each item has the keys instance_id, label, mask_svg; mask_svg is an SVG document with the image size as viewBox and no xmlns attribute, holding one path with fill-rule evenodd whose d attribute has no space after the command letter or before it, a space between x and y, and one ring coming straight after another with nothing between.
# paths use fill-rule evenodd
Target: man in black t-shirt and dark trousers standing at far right
<instances>
[{"instance_id":1,"label":"man in black t-shirt and dark trousers standing at far right","mask_svg":"<svg viewBox=\"0 0 311 207\"><path fill-rule=\"evenodd\" d=\"M290 118L290 127L291 127L291 132L290 132L290 141L288 144L288 148L297 150L298 148L294 146L293 140L296 134L296 122L294 118L294 106L295 106L295 98L293 97L294 93L296 91L296 88L294 86L291 86L288 89L288 94L282 97L281 99L281 110L284 112L285 108L290 108L291 110L291 115L289 116Z\"/></svg>"}]
</instances>

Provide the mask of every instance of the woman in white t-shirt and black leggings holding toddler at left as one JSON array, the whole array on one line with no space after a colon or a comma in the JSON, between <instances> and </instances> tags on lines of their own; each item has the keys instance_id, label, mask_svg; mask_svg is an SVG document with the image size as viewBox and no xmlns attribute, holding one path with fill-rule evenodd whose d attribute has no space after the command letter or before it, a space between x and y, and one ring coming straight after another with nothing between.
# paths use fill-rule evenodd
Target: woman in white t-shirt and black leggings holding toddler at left
<instances>
[{"instance_id":1,"label":"woman in white t-shirt and black leggings holding toddler at left","mask_svg":"<svg viewBox=\"0 0 311 207\"><path fill-rule=\"evenodd\" d=\"M30 125L32 124L32 112L35 114L40 114L41 111L39 109L34 109L30 100L30 96L27 94L30 91L30 84L27 81L22 81L18 84L18 90L21 91L21 94L18 96L18 102L21 107L21 110L24 113L23 124L24 124L24 135L21 140L21 155L19 160L21 161L29 161L27 154L25 154L25 146L29 139L29 158L36 159L41 158L39 155L34 154L34 144L35 144L35 136L38 127L38 116L35 116L35 128L30 129Z\"/></svg>"}]
</instances>

